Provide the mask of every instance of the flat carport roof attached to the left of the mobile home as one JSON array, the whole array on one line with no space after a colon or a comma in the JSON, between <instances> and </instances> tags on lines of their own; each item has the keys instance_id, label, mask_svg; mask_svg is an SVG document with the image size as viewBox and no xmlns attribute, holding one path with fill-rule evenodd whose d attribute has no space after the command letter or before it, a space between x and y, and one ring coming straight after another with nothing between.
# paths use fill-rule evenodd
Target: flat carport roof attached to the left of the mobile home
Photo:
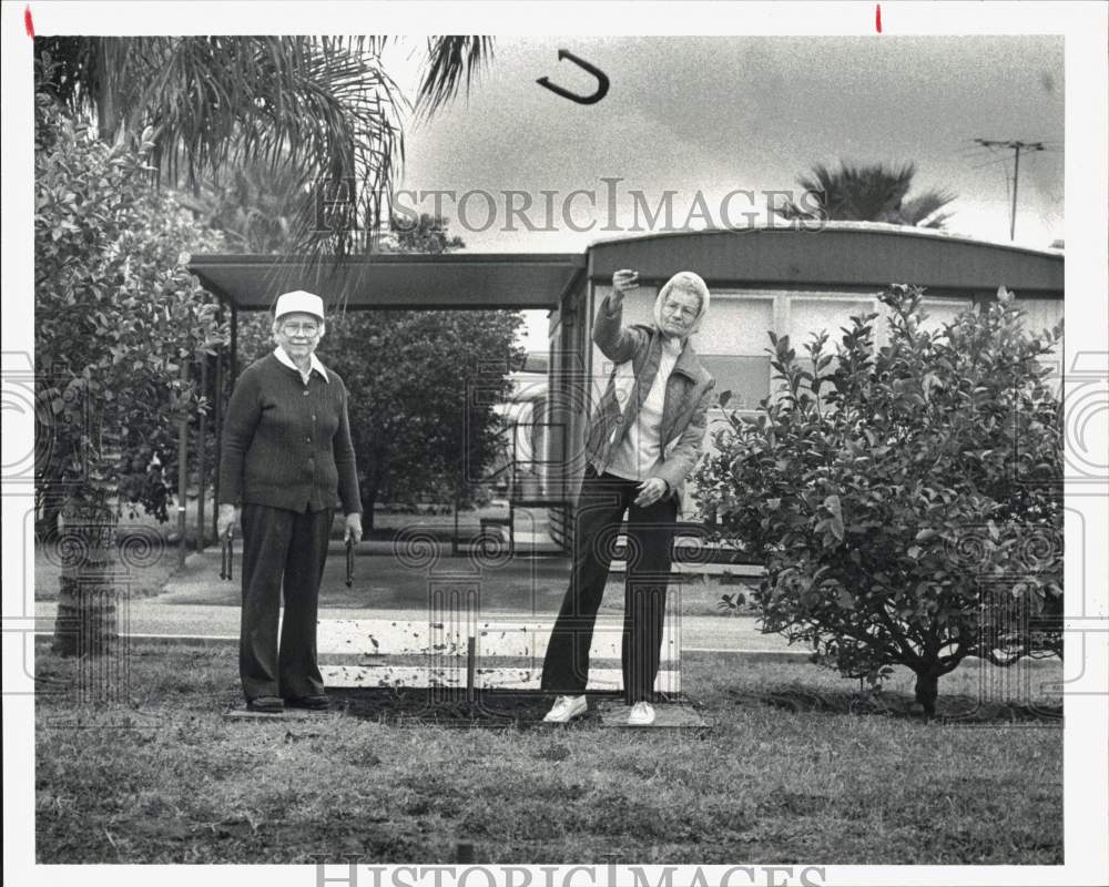
<instances>
[{"instance_id":1,"label":"flat carport roof attached to the left of the mobile home","mask_svg":"<svg viewBox=\"0 0 1109 887\"><path fill-rule=\"evenodd\" d=\"M385 254L340 263L296 256L196 255L205 289L241 310L267 310L282 293L307 289L348 308L554 308L584 273L574 253Z\"/></svg>"}]
</instances>

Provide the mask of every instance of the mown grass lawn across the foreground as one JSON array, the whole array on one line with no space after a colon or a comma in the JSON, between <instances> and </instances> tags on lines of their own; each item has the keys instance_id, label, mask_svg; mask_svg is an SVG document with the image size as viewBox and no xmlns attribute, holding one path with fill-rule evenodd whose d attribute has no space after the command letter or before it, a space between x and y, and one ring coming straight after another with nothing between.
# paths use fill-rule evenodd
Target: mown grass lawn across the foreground
<instances>
[{"instance_id":1,"label":"mown grass lawn across the foreground","mask_svg":"<svg viewBox=\"0 0 1109 887\"><path fill-rule=\"evenodd\" d=\"M1058 706L1036 693L1058 663L1010 670L991 685L1009 703L978 711L964 669L940 713L969 716L928 723L904 714L904 673L861 707L857 682L816 666L690 654L683 684L711 726L669 732L543 727L535 696L490 700L500 721L455 717L419 691L228 721L230 648L134 649L130 706L75 702L75 664L45 645L35 671L45 864L449 863L459 839L479 863L1062 861L1060 722L1014 704L1025 675ZM494 723L509 726L477 726Z\"/></svg>"}]
</instances>

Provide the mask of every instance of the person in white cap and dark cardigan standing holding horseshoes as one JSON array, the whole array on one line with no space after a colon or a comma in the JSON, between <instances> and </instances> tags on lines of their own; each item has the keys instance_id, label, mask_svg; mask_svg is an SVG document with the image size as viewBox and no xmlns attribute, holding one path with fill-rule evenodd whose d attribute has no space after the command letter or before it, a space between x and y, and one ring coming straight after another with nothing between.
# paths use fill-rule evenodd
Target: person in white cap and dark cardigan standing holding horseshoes
<instances>
[{"instance_id":1,"label":"person in white cap and dark cardigan standing holding horseshoes","mask_svg":"<svg viewBox=\"0 0 1109 887\"><path fill-rule=\"evenodd\" d=\"M273 334L277 347L243 371L227 407L217 528L221 536L235 522L243 530L238 669L247 708L326 708L316 609L337 504L345 538L362 539L347 391L315 355L324 335L319 296L279 296Z\"/></svg>"}]
</instances>

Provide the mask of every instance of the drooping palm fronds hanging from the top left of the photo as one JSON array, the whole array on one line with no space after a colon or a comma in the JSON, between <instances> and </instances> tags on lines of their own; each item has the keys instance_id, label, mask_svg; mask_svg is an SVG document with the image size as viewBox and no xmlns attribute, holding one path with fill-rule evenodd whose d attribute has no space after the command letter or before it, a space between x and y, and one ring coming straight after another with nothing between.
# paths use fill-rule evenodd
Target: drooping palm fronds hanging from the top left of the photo
<instances>
[{"instance_id":1,"label":"drooping palm fronds hanging from the top left of the photo","mask_svg":"<svg viewBox=\"0 0 1109 887\"><path fill-rule=\"evenodd\" d=\"M381 67L385 38L45 37L40 84L105 141L154 142L156 181L200 191L264 164L289 193L355 184L325 225L301 201L293 247L343 256L369 249L404 162L401 112L434 113L469 90L492 54L486 37L433 37L415 108ZM387 216L385 216L387 217Z\"/></svg>"}]
</instances>

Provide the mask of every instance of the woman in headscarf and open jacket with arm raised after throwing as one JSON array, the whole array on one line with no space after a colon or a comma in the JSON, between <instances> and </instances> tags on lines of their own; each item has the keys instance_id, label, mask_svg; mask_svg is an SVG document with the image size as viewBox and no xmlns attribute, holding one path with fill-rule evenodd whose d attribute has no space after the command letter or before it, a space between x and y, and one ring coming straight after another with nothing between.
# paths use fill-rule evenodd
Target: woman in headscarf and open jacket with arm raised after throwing
<instances>
[{"instance_id":1,"label":"woman in headscarf and open jacket with arm raised after throwing","mask_svg":"<svg viewBox=\"0 0 1109 887\"><path fill-rule=\"evenodd\" d=\"M593 341L614 368L589 424L570 587L543 663L542 689L561 694L545 718L552 723L587 708L593 624L625 511L624 700L632 706L629 724L654 722L679 500L701 455L715 383L689 343L709 310L704 281L692 272L675 274L659 290L654 326L624 327L623 294L638 286L638 277L632 271L612 276L612 294L593 323Z\"/></svg>"}]
</instances>

